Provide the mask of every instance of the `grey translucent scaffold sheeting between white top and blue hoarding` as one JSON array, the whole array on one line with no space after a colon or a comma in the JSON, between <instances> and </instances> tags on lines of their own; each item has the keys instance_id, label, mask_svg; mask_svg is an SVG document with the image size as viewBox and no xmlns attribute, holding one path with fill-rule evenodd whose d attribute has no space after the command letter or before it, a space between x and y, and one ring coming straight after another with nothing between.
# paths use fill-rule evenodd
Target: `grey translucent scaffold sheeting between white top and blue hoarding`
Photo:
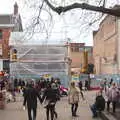
<instances>
[{"instance_id":1,"label":"grey translucent scaffold sheeting between white top and blue hoarding","mask_svg":"<svg viewBox=\"0 0 120 120\"><path fill-rule=\"evenodd\" d=\"M14 45L16 62L10 63L11 76L40 76L42 74L67 73L67 47L64 45Z\"/></svg>"}]
</instances>

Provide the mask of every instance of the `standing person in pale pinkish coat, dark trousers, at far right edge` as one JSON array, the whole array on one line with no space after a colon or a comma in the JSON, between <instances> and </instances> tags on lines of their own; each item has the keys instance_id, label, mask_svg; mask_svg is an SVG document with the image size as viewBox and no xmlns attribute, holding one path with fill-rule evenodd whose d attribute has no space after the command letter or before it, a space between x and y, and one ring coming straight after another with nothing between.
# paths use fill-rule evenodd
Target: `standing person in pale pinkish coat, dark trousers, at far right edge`
<instances>
[{"instance_id":1,"label":"standing person in pale pinkish coat, dark trousers, at far right edge","mask_svg":"<svg viewBox=\"0 0 120 120\"><path fill-rule=\"evenodd\" d=\"M116 103L119 101L120 92L119 92L119 90L116 87L116 84L114 82L112 83L112 86L108 89L106 95L108 97L107 111L109 112L110 103L112 102L113 113L115 113L116 112Z\"/></svg>"}]
</instances>

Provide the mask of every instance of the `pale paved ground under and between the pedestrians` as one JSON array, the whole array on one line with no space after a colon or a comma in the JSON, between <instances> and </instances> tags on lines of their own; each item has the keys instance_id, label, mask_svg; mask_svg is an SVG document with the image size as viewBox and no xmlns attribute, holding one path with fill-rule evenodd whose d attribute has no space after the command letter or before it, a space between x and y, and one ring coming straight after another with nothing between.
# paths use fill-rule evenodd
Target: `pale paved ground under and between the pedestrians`
<instances>
[{"instance_id":1,"label":"pale paved ground under and between the pedestrians","mask_svg":"<svg viewBox=\"0 0 120 120\"><path fill-rule=\"evenodd\" d=\"M95 120L95 118L92 118L92 113L89 108L89 105L94 102L95 95L96 91L84 92L86 100L83 101L80 99L77 112L79 117L76 118L71 116L71 109L67 97L61 98L56 105L56 111L58 113L57 120ZM22 97L18 96L17 102L7 103L5 109L0 110L0 120L27 120L27 110L23 110L22 101ZM38 104L36 120L46 120L45 108L41 104ZM101 118L96 118L96 120L101 120Z\"/></svg>"}]
</instances>

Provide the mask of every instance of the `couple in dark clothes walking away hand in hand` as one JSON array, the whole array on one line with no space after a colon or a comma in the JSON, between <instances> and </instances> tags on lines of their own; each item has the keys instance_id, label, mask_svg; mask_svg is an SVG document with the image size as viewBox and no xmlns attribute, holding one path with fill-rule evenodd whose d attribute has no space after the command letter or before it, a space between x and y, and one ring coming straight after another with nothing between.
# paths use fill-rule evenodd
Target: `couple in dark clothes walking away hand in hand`
<instances>
[{"instance_id":1,"label":"couple in dark clothes walking away hand in hand","mask_svg":"<svg viewBox=\"0 0 120 120\"><path fill-rule=\"evenodd\" d=\"M51 120L57 118L55 105L60 100L59 85L59 79L54 78L51 81L38 81L36 85L32 81L27 83L27 87L23 91L23 106L26 107L27 104L29 120L36 119L37 98L39 98L41 104L44 104L47 120L50 119L50 116ZM42 89L44 89L43 94L40 93ZM33 116L31 115L31 111L33 111Z\"/></svg>"}]
</instances>

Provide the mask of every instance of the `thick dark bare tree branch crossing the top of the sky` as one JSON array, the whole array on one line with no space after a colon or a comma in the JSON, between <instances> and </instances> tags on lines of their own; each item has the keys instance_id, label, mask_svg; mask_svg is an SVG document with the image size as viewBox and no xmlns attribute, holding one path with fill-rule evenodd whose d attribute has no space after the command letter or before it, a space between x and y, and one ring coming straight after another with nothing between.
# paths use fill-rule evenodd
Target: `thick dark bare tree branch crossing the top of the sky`
<instances>
[{"instance_id":1,"label":"thick dark bare tree branch crossing the top of the sky","mask_svg":"<svg viewBox=\"0 0 120 120\"><path fill-rule=\"evenodd\" d=\"M97 7L97 6L89 5L86 3L81 3L81 4L74 3L65 7L63 6L55 7L49 2L49 0L44 0L44 1L53 11L57 12L58 14L61 14L62 12L67 12L75 8L81 8L81 9L92 10L96 12L102 12L102 13L110 14L113 16L118 16L118 17L120 16L120 9L109 9L103 6Z\"/></svg>"}]
</instances>

